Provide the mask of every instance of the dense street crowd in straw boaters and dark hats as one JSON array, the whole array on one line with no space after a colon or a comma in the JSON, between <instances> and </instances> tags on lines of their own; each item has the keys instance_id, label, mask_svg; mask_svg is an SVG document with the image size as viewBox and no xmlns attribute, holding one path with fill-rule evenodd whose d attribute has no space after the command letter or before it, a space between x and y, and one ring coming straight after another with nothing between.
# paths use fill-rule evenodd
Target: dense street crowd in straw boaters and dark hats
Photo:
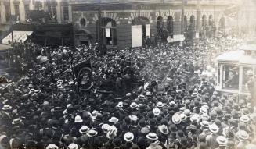
<instances>
[{"instance_id":1,"label":"dense street crowd in straw boaters and dark hats","mask_svg":"<svg viewBox=\"0 0 256 149\"><path fill-rule=\"evenodd\" d=\"M0 88L0 148L256 148L251 98L215 90L213 58L238 44L223 42L101 56L86 46L19 45L30 56L19 58L23 77ZM70 67L89 57L93 87L81 92Z\"/></svg>"}]
</instances>

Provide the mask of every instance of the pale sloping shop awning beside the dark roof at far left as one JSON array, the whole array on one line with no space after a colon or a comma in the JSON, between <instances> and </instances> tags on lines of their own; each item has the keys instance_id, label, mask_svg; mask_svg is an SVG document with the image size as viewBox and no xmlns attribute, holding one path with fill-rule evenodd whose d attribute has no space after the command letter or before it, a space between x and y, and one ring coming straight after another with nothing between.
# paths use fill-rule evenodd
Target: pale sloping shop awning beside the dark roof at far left
<instances>
[{"instance_id":1,"label":"pale sloping shop awning beside the dark roof at far left","mask_svg":"<svg viewBox=\"0 0 256 149\"><path fill-rule=\"evenodd\" d=\"M13 30L13 41L24 42L27 41L27 37L30 36L33 31L15 31ZM12 41L12 33L8 34L2 39L2 44L9 44L8 41Z\"/></svg>"}]
</instances>

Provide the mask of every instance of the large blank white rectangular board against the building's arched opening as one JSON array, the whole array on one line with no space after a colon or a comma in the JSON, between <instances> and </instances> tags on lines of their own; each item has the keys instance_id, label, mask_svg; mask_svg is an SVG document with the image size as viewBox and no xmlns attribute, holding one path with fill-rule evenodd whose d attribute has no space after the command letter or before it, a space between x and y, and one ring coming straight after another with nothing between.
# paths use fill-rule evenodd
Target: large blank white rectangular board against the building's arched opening
<instances>
[{"instance_id":1,"label":"large blank white rectangular board against the building's arched opening","mask_svg":"<svg viewBox=\"0 0 256 149\"><path fill-rule=\"evenodd\" d=\"M132 47L142 46L142 26L134 25L132 26Z\"/></svg>"}]
</instances>

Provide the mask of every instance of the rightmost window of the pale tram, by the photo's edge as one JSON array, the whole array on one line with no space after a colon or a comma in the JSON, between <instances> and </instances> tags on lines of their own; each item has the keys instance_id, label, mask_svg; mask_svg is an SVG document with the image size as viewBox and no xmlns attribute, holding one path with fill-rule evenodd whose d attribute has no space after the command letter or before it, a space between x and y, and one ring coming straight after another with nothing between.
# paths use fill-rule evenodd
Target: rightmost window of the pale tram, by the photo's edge
<instances>
[{"instance_id":1,"label":"rightmost window of the pale tram, by the photo's edge","mask_svg":"<svg viewBox=\"0 0 256 149\"><path fill-rule=\"evenodd\" d=\"M254 70L252 68L243 67L243 83L242 83L243 91L248 91L249 89L248 85L251 83L253 76L254 76Z\"/></svg>"}]
</instances>

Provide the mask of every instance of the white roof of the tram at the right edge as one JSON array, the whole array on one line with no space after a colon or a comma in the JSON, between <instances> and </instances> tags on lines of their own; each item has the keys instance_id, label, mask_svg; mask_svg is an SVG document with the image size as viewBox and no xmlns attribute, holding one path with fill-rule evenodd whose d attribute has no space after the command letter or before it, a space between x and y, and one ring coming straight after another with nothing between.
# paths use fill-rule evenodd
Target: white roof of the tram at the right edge
<instances>
[{"instance_id":1,"label":"white roof of the tram at the right edge","mask_svg":"<svg viewBox=\"0 0 256 149\"><path fill-rule=\"evenodd\" d=\"M251 55L244 55L244 51L229 51L218 55L215 59L217 62L228 62L230 64L240 63L247 65L256 65L256 58Z\"/></svg>"}]
</instances>

